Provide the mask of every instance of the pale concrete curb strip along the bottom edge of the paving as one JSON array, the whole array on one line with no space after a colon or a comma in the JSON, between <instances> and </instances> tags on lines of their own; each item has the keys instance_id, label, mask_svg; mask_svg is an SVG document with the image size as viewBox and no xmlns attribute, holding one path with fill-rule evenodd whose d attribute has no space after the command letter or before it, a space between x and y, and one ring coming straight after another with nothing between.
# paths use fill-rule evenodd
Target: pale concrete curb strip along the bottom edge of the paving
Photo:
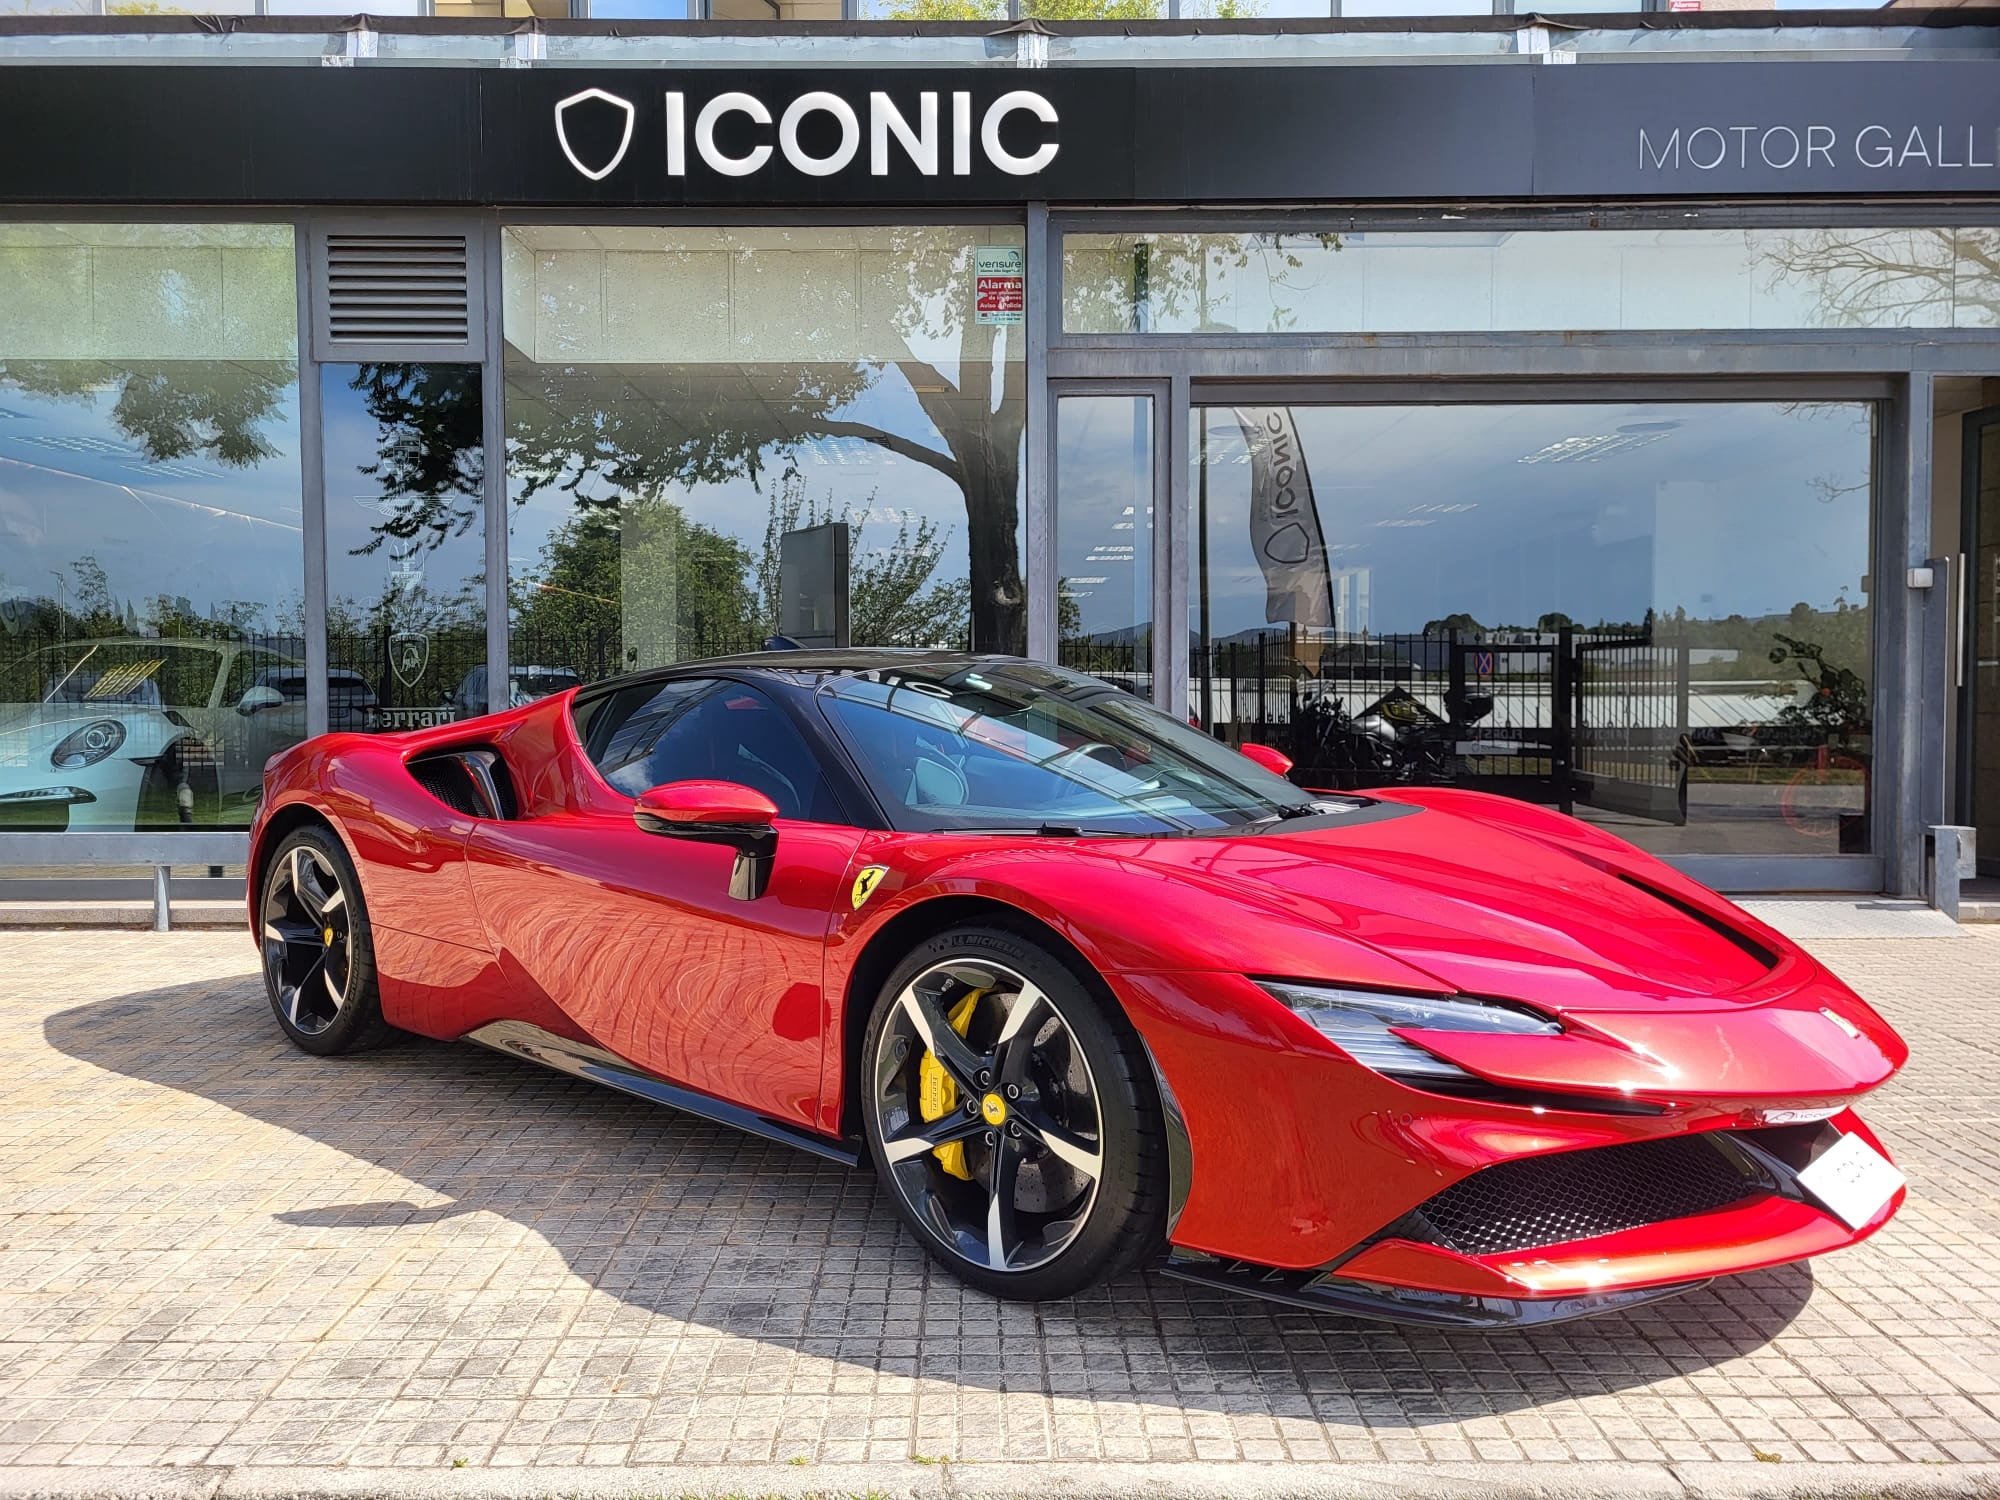
<instances>
[{"instance_id":1,"label":"pale concrete curb strip along the bottom edge of the paving","mask_svg":"<svg viewBox=\"0 0 2000 1500\"><path fill-rule=\"evenodd\" d=\"M2000 1464L14 1468L0 1500L1988 1500Z\"/></svg>"}]
</instances>

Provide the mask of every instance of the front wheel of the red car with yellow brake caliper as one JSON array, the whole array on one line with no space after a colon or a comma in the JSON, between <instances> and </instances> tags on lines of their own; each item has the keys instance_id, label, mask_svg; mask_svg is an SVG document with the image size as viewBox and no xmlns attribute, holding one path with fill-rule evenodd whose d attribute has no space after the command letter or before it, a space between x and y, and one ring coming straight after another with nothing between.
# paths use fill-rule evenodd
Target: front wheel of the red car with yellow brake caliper
<instances>
[{"instance_id":1,"label":"front wheel of the red car with yellow brake caliper","mask_svg":"<svg viewBox=\"0 0 2000 1500\"><path fill-rule=\"evenodd\" d=\"M984 1292L1072 1296L1164 1234L1166 1142L1124 1016L1038 942L962 926L882 986L862 1116L896 1210Z\"/></svg>"}]
</instances>

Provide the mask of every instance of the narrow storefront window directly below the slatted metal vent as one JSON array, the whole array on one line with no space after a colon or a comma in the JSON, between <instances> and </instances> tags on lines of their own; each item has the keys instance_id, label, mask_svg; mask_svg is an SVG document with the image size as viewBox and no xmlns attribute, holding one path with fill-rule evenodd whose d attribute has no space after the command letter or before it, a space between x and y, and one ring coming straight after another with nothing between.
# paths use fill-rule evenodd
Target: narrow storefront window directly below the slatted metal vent
<instances>
[{"instance_id":1,"label":"narrow storefront window directly below the slatted metal vent","mask_svg":"<svg viewBox=\"0 0 2000 1500\"><path fill-rule=\"evenodd\" d=\"M480 368L328 364L320 408L328 728L506 708L486 692Z\"/></svg>"}]
</instances>

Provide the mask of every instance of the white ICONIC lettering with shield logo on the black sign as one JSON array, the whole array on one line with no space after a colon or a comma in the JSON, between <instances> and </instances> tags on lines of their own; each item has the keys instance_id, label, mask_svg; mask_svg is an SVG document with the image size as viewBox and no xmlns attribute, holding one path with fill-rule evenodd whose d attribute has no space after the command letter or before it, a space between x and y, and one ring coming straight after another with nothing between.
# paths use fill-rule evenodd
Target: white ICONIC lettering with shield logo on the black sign
<instances>
[{"instance_id":1,"label":"white ICONIC lettering with shield logo on the black sign","mask_svg":"<svg viewBox=\"0 0 2000 1500\"><path fill-rule=\"evenodd\" d=\"M588 166L576 150L572 150L570 134L564 126L564 112L572 104L584 100L604 100L626 112L624 144L618 146L616 156L602 168ZM666 102L666 174L674 178L688 176L688 96L680 90L668 90ZM770 128L776 124L776 140L756 140L756 144L744 146L742 136L732 136L742 154L728 154L716 140L724 132L724 120L732 114L740 114L750 120L752 126ZM816 116L830 116L838 126L838 144L824 156L814 156L800 134L812 136L806 122ZM868 120L866 120L866 142L868 142L868 174L888 176L896 170L898 162L908 162L908 166L926 178L950 172L950 176L972 176L972 164L976 160L974 152L986 160L988 166L1006 172L1008 176L1024 178L1034 176L1044 170L1052 160L1060 144L1054 140L1042 140L1034 150L1022 154L1008 150L1002 140L1002 132L1008 130L1008 120L1016 114L1032 114L1044 126L1060 124L1056 106L1048 102L1046 96L1034 90L1016 88L992 104L986 106L984 114L974 118L972 94L952 92L950 96L950 162L942 160L946 152L944 142L944 96L936 90L924 90L916 96L916 122L912 124L906 106L898 106L894 98L886 92L868 94ZM632 144L632 104L618 98L616 94L606 94L602 88L586 88L582 94L572 94L562 104L556 106L556 136L562 144L562 154L568 156L570 166L582 172L592 182L608 176L626 156L626 148ZM844 96L814 90L800 94L790 104L784 106L780 116L772 114L772 106L764 104L756 94L728 92L716 94L694 114L694 150L692 158L706 166L710 172L720 172L728 178L744 178L752 172L762 170L772 162L774 156L782 156L786 166L796 172L804 172L814 178L830 178L844 172L862 150L864 124L862 114L856 104L848 102ZM1678 154L1678 132L1676 146Z\"/></svg>"}]
</instances>

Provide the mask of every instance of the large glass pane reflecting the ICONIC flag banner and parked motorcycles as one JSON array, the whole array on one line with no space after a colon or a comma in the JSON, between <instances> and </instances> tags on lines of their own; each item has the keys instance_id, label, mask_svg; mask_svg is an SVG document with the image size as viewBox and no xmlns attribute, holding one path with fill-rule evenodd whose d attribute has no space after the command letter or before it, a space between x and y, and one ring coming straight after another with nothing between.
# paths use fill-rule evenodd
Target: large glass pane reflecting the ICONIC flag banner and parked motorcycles
<instances>
[{"instance_id":1,"label":"large glass pane reflecting the ICONIC flag banner and parked motorcycles","mask_svg":"<svg viewBox=\"0 0 2000 1500\"><path fill-rule=\"evenodd\" d=\"M1196 408L1188 702L1304 786L1868 850L1864 402Z\"/></svg>"}]
</instances>

